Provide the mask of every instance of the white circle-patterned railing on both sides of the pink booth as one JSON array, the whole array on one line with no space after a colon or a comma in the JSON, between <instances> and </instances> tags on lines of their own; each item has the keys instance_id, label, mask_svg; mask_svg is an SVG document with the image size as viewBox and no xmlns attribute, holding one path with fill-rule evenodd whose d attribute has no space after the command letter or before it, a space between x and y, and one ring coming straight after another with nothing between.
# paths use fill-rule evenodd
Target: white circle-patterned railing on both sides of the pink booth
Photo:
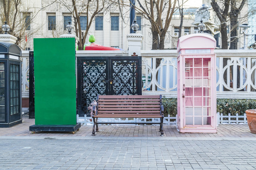
<instances>
[{"instance_id":1,"label":"white circle-patterned railing on both sides of the pink booth","mask_svg":"<svg viewBox=\"0 0 256 170\"><path fill-rule=\"evenodd\" d=\"M256 99L256 50L215 50L218 98ZM177 96L175 50L142 51L143 94Z\"/></svg>"}]
</instances>

